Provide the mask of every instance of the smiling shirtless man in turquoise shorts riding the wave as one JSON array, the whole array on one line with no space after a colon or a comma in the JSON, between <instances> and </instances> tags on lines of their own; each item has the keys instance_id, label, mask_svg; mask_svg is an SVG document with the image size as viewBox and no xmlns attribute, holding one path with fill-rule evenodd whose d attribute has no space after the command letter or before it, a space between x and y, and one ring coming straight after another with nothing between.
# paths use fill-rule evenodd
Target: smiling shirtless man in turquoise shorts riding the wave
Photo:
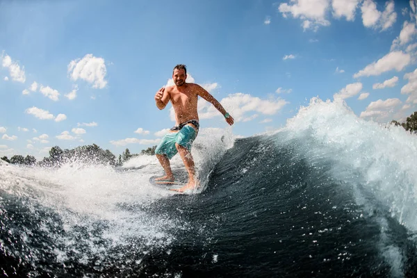
<instances>
[{"instance_id":1,"label":"smiling shirtless man in turquoise shorts riding the wave","mask_svg":"<svg viewBox=\"0 0 417 278\"><path fill-rule=\"evenodd\" d=\"M160 110L167 106L171 101L175 111L177 124L167 133L161 143L156 147L155 154L165 170L165 177L155 179L156 181L174 181L170 159L179 153L188 172L188 183L186 186L175 191L184 192L197 188L198 181L195 177L195 165L191 156L191 145L197 137L199 129L199 119L197 113L197 100L202 97L217 108L226 122L234 124L234 119L227 113L223 106L209 92L195 83L186 83L187 69L185 65L176 65L172 73L175 85L161 88L155 94L156 107Z\"/></svg>"}]
</instances>

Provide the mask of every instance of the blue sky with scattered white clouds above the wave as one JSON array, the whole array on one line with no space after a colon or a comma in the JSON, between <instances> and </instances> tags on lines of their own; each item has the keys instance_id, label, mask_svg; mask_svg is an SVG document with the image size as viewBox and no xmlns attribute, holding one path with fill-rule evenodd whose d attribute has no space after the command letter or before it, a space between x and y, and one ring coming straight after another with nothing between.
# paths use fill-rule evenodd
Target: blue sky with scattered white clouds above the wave
<instances>
[{"instance_id":1,"label":"blue sky with scattered white clouds above the wave","mask_svg":"<svg viewBox=\"0 0 417 278\"><path fill-rule=\"evenodd\" d=\"M238 136L317 96L402 121L417 110L416 33L416 0L1 1L0 156L156 145L174 121L154 95L179 63ZM199 111L202 128L227 127Z\"/></svg>"}]
</instances>

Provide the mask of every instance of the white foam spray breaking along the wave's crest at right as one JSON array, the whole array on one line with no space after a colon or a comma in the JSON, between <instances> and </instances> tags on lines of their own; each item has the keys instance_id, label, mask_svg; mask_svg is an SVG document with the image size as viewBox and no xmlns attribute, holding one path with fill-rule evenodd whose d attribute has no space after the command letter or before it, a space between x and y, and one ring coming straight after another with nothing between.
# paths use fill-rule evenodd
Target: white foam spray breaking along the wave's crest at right
<instances>
[{"instance_id":1,"label":"white foam spray breaking along the wave's crest at right","mask_svg":"<svg viewBox=\"0 0 417 278\"><path fill-rule=\"evenodd\" d=\"M285 130L289 139L304 140L304 151L311 159L333 162L333 176L354 188L357 204L369 216L382 206L400 224L417 231L416 134L401 126L363 120L344 101L318 98L300 108ZM404 259L400 247L386 235L385 217L377 216L381 226L378 247L391 265L391 275L401 277Z\"/></svg>"}]
</instances>

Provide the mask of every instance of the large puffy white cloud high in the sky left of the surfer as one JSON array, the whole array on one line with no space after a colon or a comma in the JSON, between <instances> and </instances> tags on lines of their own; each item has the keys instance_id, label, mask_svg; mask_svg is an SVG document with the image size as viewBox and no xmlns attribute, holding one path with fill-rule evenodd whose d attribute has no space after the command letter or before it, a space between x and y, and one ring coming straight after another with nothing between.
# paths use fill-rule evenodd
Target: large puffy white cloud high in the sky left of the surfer
<instances>
[{"instance_id":1,"label":"large puffy white cloud high in the sky left of the surfer","mask_svg":"<svg viewBox=\"0 0 417 278\"><path fill-rule=\"evenodd\" d=\"M83 79L92 83L92 88L102 89L107 84L104 59L92 56L92 54L87 54L82 59L72 60L68 65L68 73L74 81Z\"/></svg>"}]
</instances>

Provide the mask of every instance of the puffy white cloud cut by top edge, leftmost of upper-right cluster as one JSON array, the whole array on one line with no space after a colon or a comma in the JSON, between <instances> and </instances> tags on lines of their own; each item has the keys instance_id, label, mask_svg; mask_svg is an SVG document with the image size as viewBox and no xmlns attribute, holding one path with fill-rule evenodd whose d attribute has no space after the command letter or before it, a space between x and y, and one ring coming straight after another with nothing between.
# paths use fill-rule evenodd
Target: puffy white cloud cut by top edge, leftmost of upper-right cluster
<instances>
[{"instance_id":1,"label":"puffy white cloud cut by top edge, leftmost of upper-right cluster","mask_svg":"<svg viewBox=\"0 0 417 278\"><path fill-rule=\"evenodd\" d=\"M291 0L289 5L288 3L279 4L278 10L285 18L292 15L294 18L302 19L304 31L309 28L317 31L319 26L330 25L330 22L325 19L328 8L329 0Z\"/></svg>"}]
</instances>

